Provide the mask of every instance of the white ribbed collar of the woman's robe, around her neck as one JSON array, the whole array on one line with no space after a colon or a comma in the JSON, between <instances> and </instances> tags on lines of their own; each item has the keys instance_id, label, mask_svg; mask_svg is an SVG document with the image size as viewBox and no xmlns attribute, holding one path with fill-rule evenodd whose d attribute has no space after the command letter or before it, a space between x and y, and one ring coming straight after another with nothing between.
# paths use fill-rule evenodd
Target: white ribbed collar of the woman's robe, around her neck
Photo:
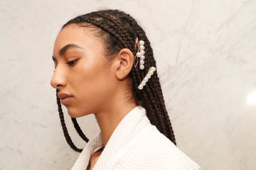
<instances>
[{"instance_id":1,"label":"white ribbed collar of the woman's robe, around her neck","mask_svg":"<svg viewBox=\"0 0 256 170\"><path fill-rule=\"evenodd\" d=\"M112 161L112 156L114 156L120 149L122 150L127 142L132 140L134 134L136 134L146 123L149 123L149 119L146 117L146 110L142 106L136 106L132 111L129 111L117 125L117 128L115 128L105 149L100 155L100 158L97 160L94 169L106 169L107 164ZM100 132L99 135L87 143L73 168L86 169L90 160L90 155L101 147L103 147L103 142Z\"/></svg>"}]
</instances>

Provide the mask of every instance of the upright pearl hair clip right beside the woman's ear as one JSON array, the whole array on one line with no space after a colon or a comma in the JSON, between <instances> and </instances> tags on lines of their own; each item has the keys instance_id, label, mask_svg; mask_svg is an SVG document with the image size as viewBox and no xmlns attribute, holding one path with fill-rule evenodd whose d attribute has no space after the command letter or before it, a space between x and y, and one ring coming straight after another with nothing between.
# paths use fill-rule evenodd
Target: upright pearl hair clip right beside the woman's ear
<instances>
[{"instance_id":1,"label":"upright pearl hair clip right beside the woman's ear","mask_svg":"<svg viewBox=\"0 0 256 170\"><path fill-rule=\"evenodd\" d=\"M135 62L135 67L137 67L138 64L138 59L139 59L139 69L144 69L144 59L145 59L145 52L144 52L144 41L143 40L139 40L139 38L136 38L135 40L135 50L136 47L138 49L137 53L136 53L136 57L137 57L137 62Z\"/></svg>"}]
</instances>

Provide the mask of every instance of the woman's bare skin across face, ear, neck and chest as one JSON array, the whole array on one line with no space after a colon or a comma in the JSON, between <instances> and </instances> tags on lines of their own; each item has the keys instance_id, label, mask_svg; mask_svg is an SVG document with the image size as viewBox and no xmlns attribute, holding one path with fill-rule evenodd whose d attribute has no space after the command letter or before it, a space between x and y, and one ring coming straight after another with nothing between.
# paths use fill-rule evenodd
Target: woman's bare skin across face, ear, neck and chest
<instances>
[{"instance_id":1,"label":"woman's bare skin across face, ear, neck and chest","mask_svg":"<svg viewBox=\"0 0 256 170\"><path fill-rule=\"evenodd\" d=\"M132 52L120 50L111 63L105 53L102 40L90 29L66 26L55 40L55 72L50 81L60 98L68 95L61 102L71 117L95 114L104 146L122 118L136 106L129 88ZM91 169L98 157L99 153L92 154Z\"/></svg>"}]
</instances>

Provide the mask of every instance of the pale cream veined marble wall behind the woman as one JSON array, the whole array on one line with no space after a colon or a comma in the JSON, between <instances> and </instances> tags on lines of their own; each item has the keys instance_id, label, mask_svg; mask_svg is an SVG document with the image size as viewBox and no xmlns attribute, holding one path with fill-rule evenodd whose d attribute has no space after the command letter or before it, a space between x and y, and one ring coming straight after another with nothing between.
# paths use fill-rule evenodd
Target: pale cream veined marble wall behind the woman
<instances>
[{"instance_id":1,"label":"pale cream veined marble wall behind the woman","mask_svg":"<svg viewBox=\"0 0 256 170\"><path fill-rule=\"evenodd\" d=\"M146 30L178 147L203 169L256 169L255 0L1 1L0 169L75 162L50 86L53 43L70 18L102 8ZM99 131L93 116L78 121L89 137Z\"/></svg>"}]
</instances>

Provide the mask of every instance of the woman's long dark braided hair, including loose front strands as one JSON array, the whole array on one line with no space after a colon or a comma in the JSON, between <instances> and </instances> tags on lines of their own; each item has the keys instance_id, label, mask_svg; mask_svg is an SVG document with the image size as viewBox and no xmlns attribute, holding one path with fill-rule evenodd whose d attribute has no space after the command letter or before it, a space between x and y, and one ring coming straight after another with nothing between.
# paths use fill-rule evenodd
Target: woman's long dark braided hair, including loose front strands
<instances>
[{"instance_id":1,"label":"woman's long dark braided hair, including loose front strands","mask_svg":"<svg viewBox=\"0 0 256 170\"><path fill-rule=\"evenodd\" d=\"M108 9L87 13L73 18L68 21L68 23L65 23L63 28L72 23L75 23L77 26L90 28L92 33L95 33L95 36L102 38L105 46L105 52L107 52L107 56L109 56L107 57L107 60L112 60L110 56L114 56L114 54L117 54L117 52L122 50L122 48L128 48L135 56L136 51L134 49L134 45L136 38L144 40L144 51L146 56L144 63L145 69L140 70L139 67L132 67L132 70L129 73L129 77L132 79L132 95L136 104L143 106L146 109L146 115L151 124L155 125L162 134L168 137L169 140L176 145L174 130L171 127L169 115L166 111L164 96L161 91L157 73L154 73L154 76L146 83L143 90L137 89L137 86L139 86L142 79L144 79L147 69L151 66L156 67L156 61L154 60L150 42L146 37L144 30L138 25L137 21L123 11ZM81 152L82 149L75 147L70 135L68 134L58 96L57 103L65 139L71 148L77 152ZM75 130L77 130L80 137L82 137L85 142L88 142L88 139L82 132L77 120L72 118L72 121Z\"/></svg>"}]
</instances>

